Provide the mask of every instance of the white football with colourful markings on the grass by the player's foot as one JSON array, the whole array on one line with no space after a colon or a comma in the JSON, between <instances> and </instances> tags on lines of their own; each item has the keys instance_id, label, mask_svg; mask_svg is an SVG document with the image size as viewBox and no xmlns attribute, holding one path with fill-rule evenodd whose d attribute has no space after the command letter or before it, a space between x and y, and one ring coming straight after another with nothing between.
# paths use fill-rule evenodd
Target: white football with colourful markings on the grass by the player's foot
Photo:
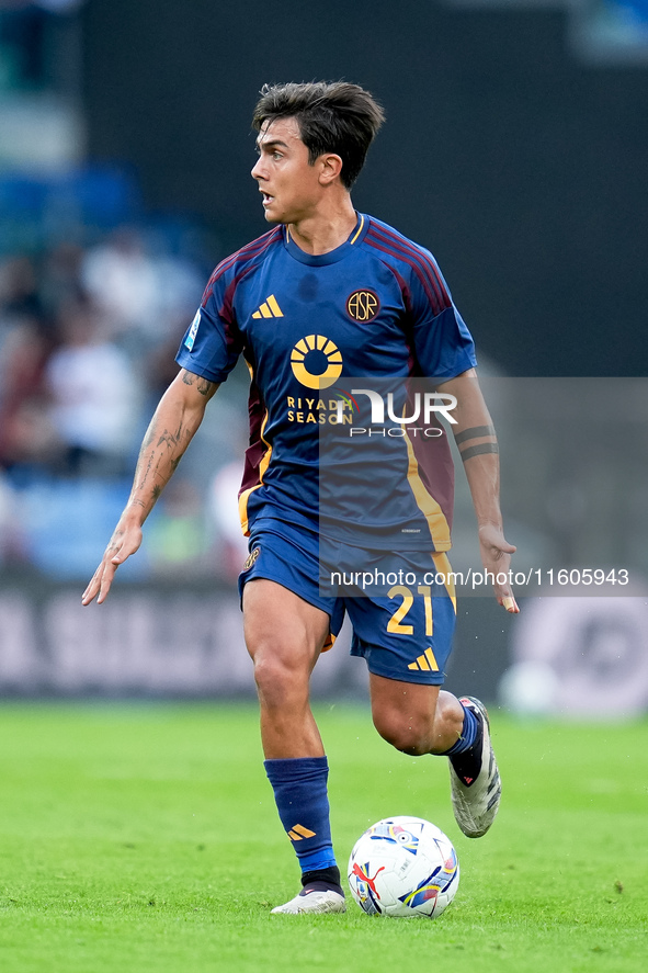
<instances>
[{"instance_id":1,"label":"white football with colourful markings on the grass by the player's foot","mask_svg":"<svg viewBox=\"0 0 648 973\"><path fill-rule=\"evenodd\" d=\"M435 919L458 884L452 841L420 817L379 821L357 839L349 859L351 894L370 916Z\"/></svg>"}]
</instances>

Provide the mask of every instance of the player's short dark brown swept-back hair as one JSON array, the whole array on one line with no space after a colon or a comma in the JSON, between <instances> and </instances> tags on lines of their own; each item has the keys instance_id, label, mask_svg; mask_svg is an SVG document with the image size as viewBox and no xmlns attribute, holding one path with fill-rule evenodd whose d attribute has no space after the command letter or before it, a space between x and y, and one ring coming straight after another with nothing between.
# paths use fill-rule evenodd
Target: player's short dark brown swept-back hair
<instances>
[{"instance_id":1,"label":"player's short dark brown swept-back hair","mask_svg":"<svg viewBox=\"0 0 648 973\"><path fill-rule=\"evenodd\" d=\"M346 81L264 84L252 127L259 132L265 122L288 117L297 121L310 165L334 152L342 159L342 184L351 189L385 113L368 91Z\"/></svg>"}]
</instances>

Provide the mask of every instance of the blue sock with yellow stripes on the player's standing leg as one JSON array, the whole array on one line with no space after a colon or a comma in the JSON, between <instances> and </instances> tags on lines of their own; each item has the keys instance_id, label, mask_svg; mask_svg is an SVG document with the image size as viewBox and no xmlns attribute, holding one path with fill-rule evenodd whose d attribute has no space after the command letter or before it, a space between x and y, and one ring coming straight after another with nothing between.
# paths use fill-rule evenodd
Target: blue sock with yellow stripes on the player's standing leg
<instances>
[{"instance_id":1,"label":"blue sock with yellow stripes on the player's standing leg","mask_svg":"<svg viewBox=\"0 0 648 973\"><path fill-rule=\"evenodd\" d=\"M282 824L299 859L303 872L336 865L329 821L326 757L265 760L268 779Z\"/></svg>"}]
</instances>

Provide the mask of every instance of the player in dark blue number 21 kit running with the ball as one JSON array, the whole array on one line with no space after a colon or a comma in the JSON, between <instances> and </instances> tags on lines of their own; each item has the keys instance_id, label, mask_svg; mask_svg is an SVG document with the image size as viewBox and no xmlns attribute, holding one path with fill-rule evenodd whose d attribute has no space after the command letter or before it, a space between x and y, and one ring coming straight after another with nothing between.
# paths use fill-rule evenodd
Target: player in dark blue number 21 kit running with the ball
<instances>
[{"instance_id":1,"label":"player in dark blue number 21 kit running with the ball","mask_svg":"<svg viewBox=\"0 0 648 973\"><path fill-rule=\"evenodd\" d=\"M240 578L243 626L265 770L302 867L300 892L275 913L345 908L331 842L328 763L309 705L310 674L344 611L354 630L352 653L368 666L378 733L403 753L450 758L453 807L464 834L484 835L500 800L484 705L441 690L455 620L450 579L422 591L396 586L361 597L345 591L328 597L320 588L318 428L334 421L334 404L321 392L340 376L429 376L437 393L454 396L452 428L485 568L505 575L515 550L503 535L497 440L468 329L430 252L356 213L351 201L383 121L380 106L355 84L263 88L253 116L259 159L252 177L265 219L275 226L214 271L182 340L180 373L144 440L126 508L83 595L84 604L106 598L115 570L139 547L144 521L207 403L242 353L251 373L250 446L240 493L250 538ZM363 504L357 523L345 524L345 546L341 541L337 550L344 547L348 556L357 529L365 538L360 546L366 548L366 536L375 539L374 561L383 564L393 557L393 531L400 523L403 557L416 547L409 539L417 538L420 547L424 535L429 563L443 579L451 518L447 443L435 468L425 469L419 444L398 442L403 462L385 464L402 473L391 534L380 522L384 512ZM329 540L336 543L334 531ZM516 612L508 584L494 588L498 602Z\"/></svg>"}]
</instances>

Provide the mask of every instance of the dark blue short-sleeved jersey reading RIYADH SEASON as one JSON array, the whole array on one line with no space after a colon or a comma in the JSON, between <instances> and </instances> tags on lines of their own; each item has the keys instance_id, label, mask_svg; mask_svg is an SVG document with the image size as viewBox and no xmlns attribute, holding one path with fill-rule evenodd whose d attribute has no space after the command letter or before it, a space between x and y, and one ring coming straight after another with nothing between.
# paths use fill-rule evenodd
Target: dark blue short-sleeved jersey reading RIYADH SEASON
<instances>
[{"instance_id":1,"label":"dark blue short-sleeved jersey reading RIYADH SEASON","mask_svg":"<svg viewBox=\"0 0 648 973\"><path fill-rule=\"evenodd\" d=\"M346 380L443 381L476 363L470 333L432 254L362 214L349 239L328 253L306 253L286 226L277 226L218 264L177 361L224 382L241 353L251 373L239 504L245 533L259 517L321 530L318 433L338 421L341 398L353 409L340 393L351 391ZM357 422L357 416L344 418ZM353 543L361 529L362 544L372 535L378 538L373 546L383 547L396 530L405 546L424 536L429 548L447 550L450 449L445 437L425 454L423 445L411 434L395 437L389 462L379 463L385 496L395 499L388 530L384 505L359 505L351 477L353 502L333 516L339 523L332 533Z\"/></svg>"}]
</instances>

